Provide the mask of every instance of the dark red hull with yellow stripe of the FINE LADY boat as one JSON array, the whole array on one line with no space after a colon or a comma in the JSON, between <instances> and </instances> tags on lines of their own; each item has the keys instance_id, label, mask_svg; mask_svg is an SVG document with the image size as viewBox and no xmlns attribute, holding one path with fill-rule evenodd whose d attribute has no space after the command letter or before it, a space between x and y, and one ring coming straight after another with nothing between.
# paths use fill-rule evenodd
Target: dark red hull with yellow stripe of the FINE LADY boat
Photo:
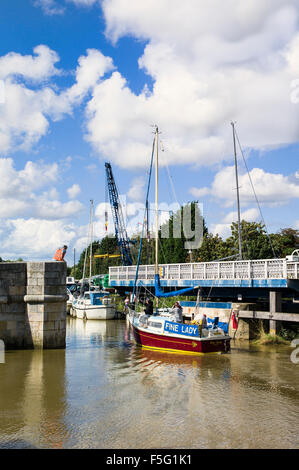
<instances>
[{"instance_id":1,"label":"dark red hull with yellow stripe of the FINE LADY boat","mask_svg":"<svg viewBox=\"0 0 299 470\"><path fill-rule=\"evenodd\" d=\"M158 335L136 328L132 323L133 334L138 345L146 349L172 352L177 354L201 355L230 351L230 337L227 338L178 338Z\"/></svg>"}]
</instances>

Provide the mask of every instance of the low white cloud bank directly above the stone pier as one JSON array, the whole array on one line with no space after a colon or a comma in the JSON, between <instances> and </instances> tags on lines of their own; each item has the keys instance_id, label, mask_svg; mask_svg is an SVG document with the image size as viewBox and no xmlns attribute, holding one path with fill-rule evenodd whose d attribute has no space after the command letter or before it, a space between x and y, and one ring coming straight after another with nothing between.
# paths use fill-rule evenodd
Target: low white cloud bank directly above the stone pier
<instances>
[{"instance_id":1,"label":"low white cloud bank directly above the stone pier","mask_svg":"<svg viewBox=\"0 0 299 470\"><path fill-rule=\"evenodd\" d=\"M63 202L55 185L62 170L57 163L28 161L17 170L12 158L0 159L1 256L3 259L51 259L62 244L75 244L74 224L83 205ZM73 196L77 185L73 185ZM87 233L87 232L86 232Z\"/></svg>"}]
</instances>

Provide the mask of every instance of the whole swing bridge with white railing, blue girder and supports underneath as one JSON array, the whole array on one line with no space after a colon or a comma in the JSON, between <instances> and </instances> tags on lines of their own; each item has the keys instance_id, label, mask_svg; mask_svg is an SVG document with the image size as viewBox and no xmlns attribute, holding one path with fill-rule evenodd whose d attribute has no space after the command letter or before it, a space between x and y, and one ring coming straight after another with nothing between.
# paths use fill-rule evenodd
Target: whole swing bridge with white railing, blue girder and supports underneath
<instances>
[{"instance_id":1,"label":"whole swing bridge with white railing, blue girder and supports underneath","mask_svg":"<svg viewBox=\"0 0 299 470\"><path fill-rule=\"evenodd\" d=\"M110 267L110 287L119 293L132 292L136 268L136 266ZM266 301L269 311L240 310L238 315L243 319L269 320L271 332L276 331L280 321L299 322L299 259L297 258L295 261L286 258L160 264L159 275L161 287L165 292L174 288L194 286L193 291L184 295L196 296L200 289L200 297L217 300L218 308L223 308L219 301L228 299L241 303ZM145 292L154 293L154 265L139 266L136 285L139 292L144 289ZM283 299L287 303L283 304ZM210 305L213 306L213 303ZM283 313L282 309L286 305L288 312Z\"/></svg>"}]
</instances>

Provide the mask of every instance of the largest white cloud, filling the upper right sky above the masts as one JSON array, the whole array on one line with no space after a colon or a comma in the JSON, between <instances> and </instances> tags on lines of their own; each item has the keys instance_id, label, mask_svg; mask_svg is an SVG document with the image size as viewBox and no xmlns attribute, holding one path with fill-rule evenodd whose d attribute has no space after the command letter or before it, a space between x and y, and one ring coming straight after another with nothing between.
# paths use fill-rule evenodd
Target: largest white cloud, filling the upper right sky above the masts
<instances>
[{"instance_id":1,"label":"largest white cloud, filling the upper right sky above the masts","mask_svg":"<svg viewBox=\"0 0 299 470\"><path fill-rule=\"evenodd\" d=\"M230 158L232 119L244 146L297 140L290 84L299 74L298 2L104 0L102 8L112 41L146 41L139 67L154 80L152 92L139 94L117 71L96 85L86 139L102 158L146 166L151 124L162 130L172 164Z\"/></svg>"}]
</instances>

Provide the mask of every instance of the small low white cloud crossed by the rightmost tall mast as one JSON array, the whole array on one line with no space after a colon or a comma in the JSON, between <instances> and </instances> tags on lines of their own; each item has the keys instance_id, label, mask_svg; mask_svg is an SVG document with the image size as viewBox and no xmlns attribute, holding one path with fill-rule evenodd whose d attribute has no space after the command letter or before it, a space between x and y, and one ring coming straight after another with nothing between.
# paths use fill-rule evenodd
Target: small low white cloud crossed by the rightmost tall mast
<instances>
[{"instance_id":1,"label":"small low white cloud crossed by the rightmost tall mast","mask_svg":"<svg viewBox=\"0 0 299 470\"><path fill-rule=\"evenodd\" d=\"M287 204L293 198L299 198L299 183L280 173L268 173L261 168L253 168L251 180L258 201L267 205ZM247 173L239 174L241 204L255 201L254 193ZM227 206L236 201L235 169L233 166L220 170L210 188L191 188L194 197L210 194L213 198L225 201Z\"/></svg>"}]
</instances>

